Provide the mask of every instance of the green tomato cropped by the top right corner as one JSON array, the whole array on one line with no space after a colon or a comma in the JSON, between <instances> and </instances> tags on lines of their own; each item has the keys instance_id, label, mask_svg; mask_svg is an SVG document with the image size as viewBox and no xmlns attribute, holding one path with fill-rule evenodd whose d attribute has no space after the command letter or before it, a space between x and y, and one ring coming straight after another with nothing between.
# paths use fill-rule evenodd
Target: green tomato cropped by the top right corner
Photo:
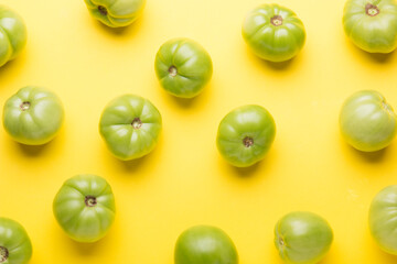
<instances>
[{"instance_id":1,"label":"green tomato cropped by the top right corner","mask_svg":"<svg viewBox=\"0 0 397 264\"><path fill-rule=\"evenodd\" d=\"M369 53L390 53L397 47L396 0L347 0L343 25L346 35Z\"/></svg>"}]
</instances>

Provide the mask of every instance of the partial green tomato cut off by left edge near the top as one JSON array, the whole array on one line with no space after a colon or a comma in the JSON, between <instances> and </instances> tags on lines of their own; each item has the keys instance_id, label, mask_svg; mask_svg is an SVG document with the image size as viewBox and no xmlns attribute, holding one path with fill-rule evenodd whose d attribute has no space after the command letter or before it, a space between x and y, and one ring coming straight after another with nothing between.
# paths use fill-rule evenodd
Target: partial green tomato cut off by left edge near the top
<instances>
[{"instance_id":1,"label":"partial green tomato cut off by left edge near the top","mask_svg":"<svg viewBox=\"0 0 397 264\"><path fill-rule=\"evenodd\" d=\"M22 18L0 6L0 67L14 59L26 45L26 26Z\"/></svg>"}]
</instances>

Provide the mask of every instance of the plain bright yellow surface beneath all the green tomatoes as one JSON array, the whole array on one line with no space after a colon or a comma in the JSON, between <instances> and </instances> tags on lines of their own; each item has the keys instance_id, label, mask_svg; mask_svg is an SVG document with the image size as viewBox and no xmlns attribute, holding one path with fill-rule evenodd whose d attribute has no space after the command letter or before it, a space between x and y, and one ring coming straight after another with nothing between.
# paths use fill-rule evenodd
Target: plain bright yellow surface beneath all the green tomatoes
<instances>
[{"instance_id":1,"label":"plain bright yellow surface beneath all the green tomatoes","mask_svg":"<svg viewBox=\"0 0 397 264\"><path fill-rule=\"evenodd\" d=\"M290 63L262 62L240 34L246 13L262 2L148 0L133 25L110 30L83 0L2 1L24 18L29 42L0 69L0 106L37 85L66 110L62 132L45 146L22 146L0 129L0 215L28 230L32 264L172 264L178 235L203 223L230 235L242 264L280 264L272 230L292 210L332 226L322 264L397 263L367 229L372 198L396 183L397 143L363 154L337 127L341 103L356 90L376 89L397 107L396 54L369 55L348 42L344 0L280 0L303 21L307 43ZM200 42L214 63L211 84L193 100L164 92L153 69L160 45L180 36ZM124 163L107 151L98 121L105 105L127 92L158 107L163 132L150 155ZM264 162L237 169L222 160L215 136L221 119L247 103L272 113L277 135ZM63 182L82 173L104 176L117 199L114 227L94 244L69 240L52 215Z\"/></svg>"}]
</instances>

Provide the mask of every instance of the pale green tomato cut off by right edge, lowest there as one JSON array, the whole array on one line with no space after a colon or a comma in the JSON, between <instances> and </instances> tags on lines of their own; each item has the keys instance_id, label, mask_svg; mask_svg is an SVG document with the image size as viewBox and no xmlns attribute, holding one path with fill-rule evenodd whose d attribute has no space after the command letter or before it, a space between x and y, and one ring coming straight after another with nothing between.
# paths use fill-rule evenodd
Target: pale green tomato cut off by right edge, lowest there
<instances>
[{"instance_id":1,"label":"pale green tomato cut off by right edge, lowest there","mask_svg":"<svg viewBox=\"0 0 397 264\"><path fill-rule=\"evenodd\" d=\"M397 255L397 185L380 190L369 207L371 234L387 253Z\"/></svg>"}]
</instances>

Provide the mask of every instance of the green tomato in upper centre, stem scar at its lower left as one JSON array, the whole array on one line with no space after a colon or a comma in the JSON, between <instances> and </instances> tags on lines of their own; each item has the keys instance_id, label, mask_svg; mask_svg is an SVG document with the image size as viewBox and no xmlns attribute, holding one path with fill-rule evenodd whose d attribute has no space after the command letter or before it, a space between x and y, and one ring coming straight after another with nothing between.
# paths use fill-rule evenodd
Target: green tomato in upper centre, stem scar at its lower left
<instances>
[{"instance_id":1,"label":"green tomato in upper centre, stem scar at its lower left","mask_svg":"<svg viewBox=\"0 0 397 264\"><path fill-rule=\"evenodd\" d=\"M154 68L161 86L182 98L197 96L213 74L208 53L187 38L165 42L155 56Z\"/></svg>"}]
</instances>

